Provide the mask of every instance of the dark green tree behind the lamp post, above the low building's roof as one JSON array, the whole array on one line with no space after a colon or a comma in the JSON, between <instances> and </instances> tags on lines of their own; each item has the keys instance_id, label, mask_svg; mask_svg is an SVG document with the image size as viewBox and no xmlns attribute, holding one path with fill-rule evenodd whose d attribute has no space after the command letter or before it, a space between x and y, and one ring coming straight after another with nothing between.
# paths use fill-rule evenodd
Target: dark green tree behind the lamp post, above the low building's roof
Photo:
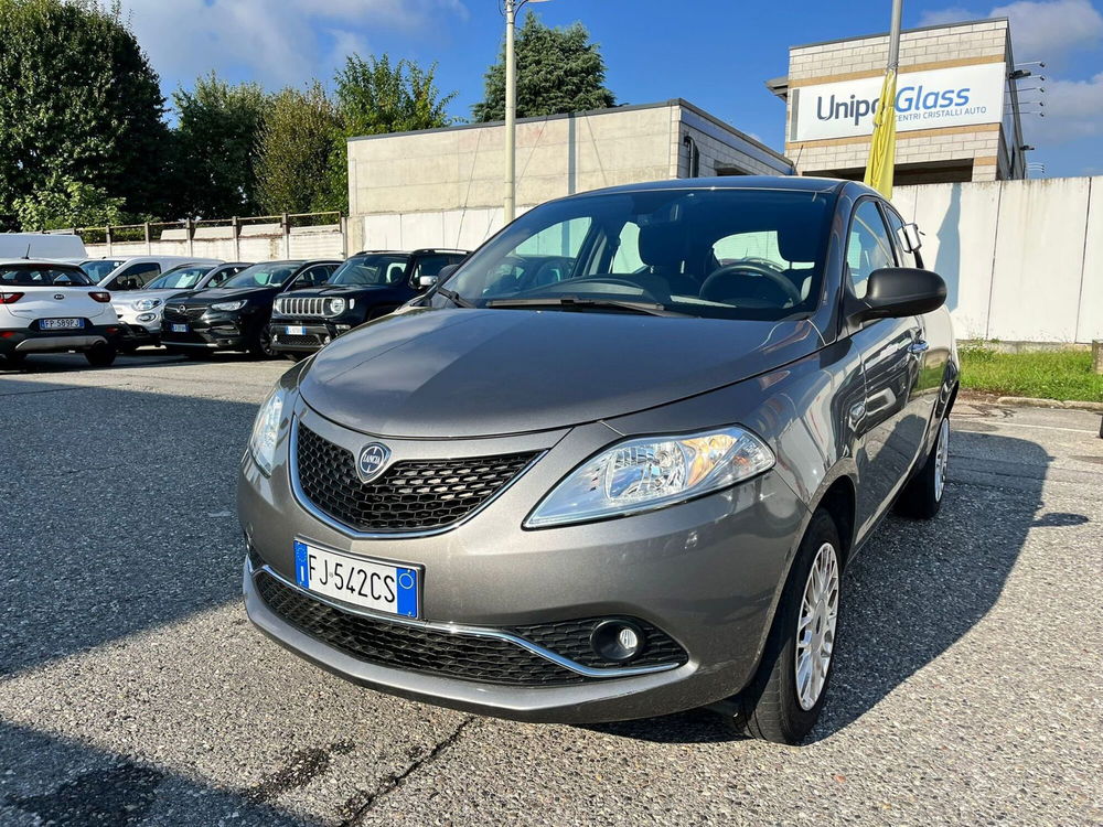
<instances>
[{"instance_id":1,"label":"dark green tree behind the lamp post, above the low building's roof","mask_svg":"<svg viewBox=\"0 0 1103 827\"><path fill-rule=\"evenodd\" d=\"M517 117L603 109L617 101L606 88L606 63L581 23L544 25L529 13L517 32ZM486 72L483 100L473 107L480 122L505 118L505 46Z\"/></svg>"}]
</instances>

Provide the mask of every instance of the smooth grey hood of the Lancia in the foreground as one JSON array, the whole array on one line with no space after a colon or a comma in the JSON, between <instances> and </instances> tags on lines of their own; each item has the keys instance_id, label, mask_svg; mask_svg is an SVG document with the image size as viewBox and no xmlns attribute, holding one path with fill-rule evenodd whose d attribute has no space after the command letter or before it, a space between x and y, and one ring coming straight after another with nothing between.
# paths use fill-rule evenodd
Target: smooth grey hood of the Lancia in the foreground
<instances>
[{"instance_id":1,"label":"smooth grey hood of the Lancia in the foreground","mask_svg":"<svg viewBox=\"0 0 1103 827\"><path fill-rule=\"evenodd\" d=\"M684 399L813 353L820 342L807 321L414 309L324 347L299 391L322 416L365 433L521 433Z\"/></svg>"}]
</instances>

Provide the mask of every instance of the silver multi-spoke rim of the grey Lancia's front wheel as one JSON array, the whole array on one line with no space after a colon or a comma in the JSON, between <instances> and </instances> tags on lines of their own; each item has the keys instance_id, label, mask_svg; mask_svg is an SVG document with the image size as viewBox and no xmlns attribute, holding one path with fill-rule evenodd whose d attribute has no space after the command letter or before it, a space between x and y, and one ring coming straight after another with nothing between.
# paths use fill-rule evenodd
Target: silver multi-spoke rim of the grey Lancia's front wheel
<instances>
[{"instance_id":1,"label":"silver multi-spoke rim of the grey Lancia's front wheel","mask_svg":"<svg viewBox=\"0 0 1103 827\"><path fill-rule=\"evenodd\" d=\"M796 699L805 710L820 700L831 668L838 621L838 573L835 547L824 543L812 562L796 621Z\"/></svg>"}]
</instances>

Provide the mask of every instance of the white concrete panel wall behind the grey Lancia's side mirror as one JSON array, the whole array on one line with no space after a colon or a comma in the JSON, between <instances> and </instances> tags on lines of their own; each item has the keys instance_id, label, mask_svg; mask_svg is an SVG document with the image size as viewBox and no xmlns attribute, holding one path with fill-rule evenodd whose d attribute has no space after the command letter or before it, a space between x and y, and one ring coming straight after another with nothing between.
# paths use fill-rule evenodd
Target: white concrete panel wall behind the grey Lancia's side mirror
<instances>
[{"instance_id":1,"label":"white concrete panel wall behind the grey Lancia's side mirror","mask_svg":"<svg viewBox=\"0 0 1103 827\"><path fill-rule=\"evenodd\" d=\"M898 187L960 339L1103 339L1103 176Z\"/></svg>"}]
</instances>

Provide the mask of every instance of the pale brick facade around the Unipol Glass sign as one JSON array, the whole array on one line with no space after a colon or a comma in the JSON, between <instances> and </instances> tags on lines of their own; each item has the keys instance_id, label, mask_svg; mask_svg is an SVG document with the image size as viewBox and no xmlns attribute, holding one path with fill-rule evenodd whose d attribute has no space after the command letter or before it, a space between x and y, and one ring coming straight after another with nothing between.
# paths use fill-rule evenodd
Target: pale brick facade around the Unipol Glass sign
<instances>
[{"instance_id":1,"label":"pale brick facade around the Unipol Glass sign","mask_svg":"<svg viewBox=\"0 0 1103 827\"><path fill-rule=\"evenodd\" d=\"M900 68L1006 61L1008 37L1006 20L904 32L900 37ZM811 86L831 79L872 77L881 74L887 63L887 35L795 46L790 50L789 84L790 87ZM993 181L997 170L999 176L1008 174L997 164L997 159L1003 157L1002 141L997 125L971 127L965 131L947 128L898 132L896 160L897 164L972 162L973 181ZM853 171L866 165L869 139L786 142L785 154L802 174Z\"/></svg>"}]
</instances>

